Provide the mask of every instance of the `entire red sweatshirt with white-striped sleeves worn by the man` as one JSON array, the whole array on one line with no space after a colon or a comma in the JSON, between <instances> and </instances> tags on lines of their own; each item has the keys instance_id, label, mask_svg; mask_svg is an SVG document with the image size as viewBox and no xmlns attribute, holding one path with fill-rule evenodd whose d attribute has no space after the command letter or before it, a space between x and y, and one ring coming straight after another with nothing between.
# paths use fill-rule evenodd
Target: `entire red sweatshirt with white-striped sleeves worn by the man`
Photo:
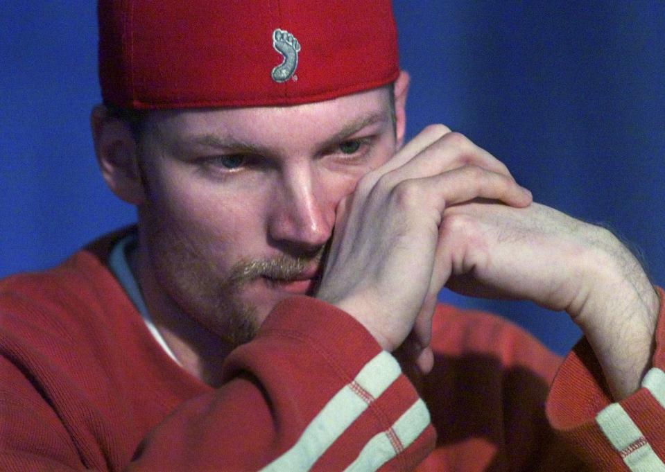
<instances>
[{"instance_id":1,"label":"entire red sweatshirt with white-striped sleeves worn by the man","mask_svg":"<svg viewBox=\"0 0 665 472\"><path fill-rule=\"evenodd\" d=\"M150 335L111 242L0 281L2 471L665 470L662 342L621 403L580 342L545 405L560 360L496 317L440 306L412 383L352 317L293 297L212 389Z\"/></svg>"}]
</instances>

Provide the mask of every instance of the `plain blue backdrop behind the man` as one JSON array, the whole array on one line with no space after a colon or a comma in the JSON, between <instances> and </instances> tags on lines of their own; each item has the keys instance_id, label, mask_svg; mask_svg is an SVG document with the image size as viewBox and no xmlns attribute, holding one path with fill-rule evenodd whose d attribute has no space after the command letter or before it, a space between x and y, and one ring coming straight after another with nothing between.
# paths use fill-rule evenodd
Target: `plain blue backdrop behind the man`
<instances>
[{"instance_id":1,"label":"plain blue backdrop behind the man","mask_svg":"<svg viewBox=\"0 0 665 472\"><path fill-rule=\"evenodd\" d=\"M412 76L408 130L446 123L506 162L535 199L603 222L665 281L665 2L395 2ZM135 218L98 174L91 0L0 6L0 276L61 261ZM564 352L561 313L442 299L511 317Z\"/></svg>"}]
</instances>

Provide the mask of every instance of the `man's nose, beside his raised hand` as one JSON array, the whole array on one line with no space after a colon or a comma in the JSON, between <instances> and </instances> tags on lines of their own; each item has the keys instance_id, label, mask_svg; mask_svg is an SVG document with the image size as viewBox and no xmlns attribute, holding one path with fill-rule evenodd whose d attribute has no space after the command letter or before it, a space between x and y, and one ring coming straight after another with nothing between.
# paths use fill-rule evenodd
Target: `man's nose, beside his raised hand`
<instances>
[{"instance_id":1,"label":"man's nose, beside his raised hand","mask_svg":"<svg viewBox=\"0 0 665 472\"><path fill-rule=\"evenodd\" d=\"M311 164L285 169L281 177L270 203L269 237L287 252L315 254L332 234L334 195Z\"/></svg>"}]
</instances>

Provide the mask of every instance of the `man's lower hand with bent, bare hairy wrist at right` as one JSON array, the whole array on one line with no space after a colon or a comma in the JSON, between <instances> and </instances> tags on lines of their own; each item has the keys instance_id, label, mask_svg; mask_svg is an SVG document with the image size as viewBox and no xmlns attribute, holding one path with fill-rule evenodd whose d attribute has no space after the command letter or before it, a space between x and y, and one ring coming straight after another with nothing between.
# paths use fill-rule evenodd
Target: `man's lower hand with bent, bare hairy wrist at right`
<instances>
[{"instance_id":1,"label":"man's lower hand with bent, bare hairy wrist at right","mask_svg":"<svg viewBox=\"0 0 665 472\"><path fill-rule=\"evenodd\" d=\"M529 299L567 311L615 399L649 367L659 309L638 261L610 231L539 204L460 204L444 211L434 271L475 297Z\"/></svg>"}]
</instances>

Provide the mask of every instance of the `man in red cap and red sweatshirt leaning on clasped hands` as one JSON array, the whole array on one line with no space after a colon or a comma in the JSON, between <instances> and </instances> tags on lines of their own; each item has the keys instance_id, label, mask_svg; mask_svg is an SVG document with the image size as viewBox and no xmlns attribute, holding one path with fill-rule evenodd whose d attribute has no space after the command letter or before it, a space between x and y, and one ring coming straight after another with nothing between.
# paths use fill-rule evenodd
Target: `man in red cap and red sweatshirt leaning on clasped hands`
<instances>
[{"instance_id":1,"label":"man in red cap and red sweatshirt leaning on clasped hands","mask_svg":"<svg viewBox=\"0 0 665 472\"><path fill-rule=\"evenodd\" d=\"M442 125L404 143L389 2L256 3L99 2L137 227L0 285L3 469L665 470L630 252ZM559 435L558 359L444 285L580 326Z\"/></svg>"}]
</instances>

